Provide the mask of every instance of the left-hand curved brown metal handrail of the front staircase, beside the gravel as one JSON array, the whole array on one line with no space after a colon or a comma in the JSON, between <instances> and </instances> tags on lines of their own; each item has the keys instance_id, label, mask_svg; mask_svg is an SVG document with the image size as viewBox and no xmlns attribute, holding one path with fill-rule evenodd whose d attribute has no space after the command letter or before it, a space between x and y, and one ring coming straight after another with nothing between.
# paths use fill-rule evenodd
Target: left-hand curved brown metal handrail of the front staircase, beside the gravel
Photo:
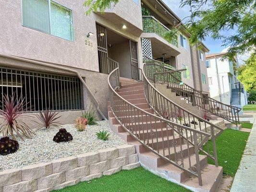
<instances>
[{"instance_id":1,"label":"left-hand curved brown metal handrail of the front staircase, beside the gravel","mask_svg":"<svg viewBox=\"0 0 256 192\"><path fill-rule=\"evenodd\" d=\"M151 114L125 100L115 91L118 87L117 81L119 81L119 76L117 74L119 74L119 68L110 72L108 78L110 88L110 108L116 120L118 120L124 130L129 132L134 139L143 144L147 149L167 160L172 165L198 177L199 184L202 185L199 151L202 151L201 147L210 139L211 135L207 132L196 130ZM162 127L162 123L164 123L165 128ZM158 124L160 124L160 127L158 127ZM211 128L213 130L213 127ZM176 133L176 136L174 132ZM154 138L155 133L157 136L156 138ZM158 134L162 136L161 141L158 141ZM167 138L165 139L167 139L168 147L164 144L164 134L167 134ZM197 135L199 135L199 137ZM170 137L173 138L170 139ZM154 140L156 140L155 143ZM182 140L187 144L188 154L190 154L189 144L192 144L193 147L195 147L196 168L191 164L190 155L188 155L189 168L184 168L183 153L177 152L179 150L183 151ZM177 144L178 141L179 144ZM171 142L172 144L170 144ZM180 148L178 145L180 145ZM171 156L171 147L174 149L175 161L172 159L174 157ZM214 159L217 160L217 154L215 153L214 155ZM218 164L216 166L218 166Z\"/></svg>"}]
</instances>

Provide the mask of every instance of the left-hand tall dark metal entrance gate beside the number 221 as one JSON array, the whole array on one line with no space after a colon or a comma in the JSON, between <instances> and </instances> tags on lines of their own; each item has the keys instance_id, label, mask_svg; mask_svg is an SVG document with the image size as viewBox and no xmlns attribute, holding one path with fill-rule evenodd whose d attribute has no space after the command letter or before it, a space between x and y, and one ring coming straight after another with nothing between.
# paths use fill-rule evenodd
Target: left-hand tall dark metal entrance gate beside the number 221
<instances>
[{"instance_id":1,"label":"left-hand tall dark metal entrance gate beside the number 221","mask_svg":"<svg viewBox=\"0 0 256 192\"><path fill-rule=\"evenodd\" d=\"M99 72L108 74L108 44L106 28L96 24Z\"/></svg>"}]
</instances>

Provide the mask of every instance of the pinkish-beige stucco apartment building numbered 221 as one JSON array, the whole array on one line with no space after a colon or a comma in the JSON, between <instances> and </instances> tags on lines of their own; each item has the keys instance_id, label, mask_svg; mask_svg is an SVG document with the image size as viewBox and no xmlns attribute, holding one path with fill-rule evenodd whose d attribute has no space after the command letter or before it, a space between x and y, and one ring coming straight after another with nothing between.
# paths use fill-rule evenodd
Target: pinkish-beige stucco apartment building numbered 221
<instances>
[{"instance_id":1,"label":"pinkish-beige stucco apartment building numbered 221","mask_svg":"<svg viewBox=\"0 0 256 192\"><path fill-rule=\"evenodd\" d=\"M136 79L143 55L186 69L183 82L208 94L209 50L191 47L185 30L166 40L163 34L183 24L161 0L120 0L104 14L88 16L83 2L0 2L0 92L22 97L24 112L49 108L72 123L92 104L104 119L108 74L118 63L121 77ZM150 14L142 15L142 8Z\"/></svg>"}]
</instances>

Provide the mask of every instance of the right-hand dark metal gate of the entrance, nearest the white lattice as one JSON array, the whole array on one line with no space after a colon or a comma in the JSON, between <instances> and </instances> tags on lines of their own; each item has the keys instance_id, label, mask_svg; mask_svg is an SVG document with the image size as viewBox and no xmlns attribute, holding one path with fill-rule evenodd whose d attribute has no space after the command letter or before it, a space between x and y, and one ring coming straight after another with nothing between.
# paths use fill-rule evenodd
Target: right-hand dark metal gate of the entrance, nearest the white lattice
<instances>
[{"instance_id":1,"label":"right-hand dark metal gate of the entrance, nearest the white lattice","mask_svg":"<svg viewBox=\"0 0 256 192\"><path fill-rule=\"evenodd\" d=\"M137 42L130 40L132 79L139 80Z\"/></svg>"}]
</instances>

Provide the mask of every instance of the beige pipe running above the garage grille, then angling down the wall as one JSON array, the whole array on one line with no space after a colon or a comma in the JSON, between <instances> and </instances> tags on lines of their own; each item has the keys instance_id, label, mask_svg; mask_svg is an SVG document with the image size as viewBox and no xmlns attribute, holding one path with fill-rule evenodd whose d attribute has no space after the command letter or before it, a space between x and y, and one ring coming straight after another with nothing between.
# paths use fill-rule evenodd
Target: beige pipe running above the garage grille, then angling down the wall
<instances>
[{"instance_id":1,"label":"beige pipe running above the garage grille, then angling down the wall","mask_svg":"<svg viewBox=\"0 0 256 192\"><path fill-rule=\"evenodd\" d=\"M21 57L17 57L17 56L12 56L12 55L7 55L7 54L3 54L3 53L0 53L0 57L5 57L5 58L13 59L13 60L20 60L20 61L24 61L24 62L34 63L34 64L37 64L37 65L42 65L42 66L45 66L45 67L50 67L50 68L55 68L55 69L60 69L60 70L69 71L69 72L75 73L78 76L78 78L81 80L83 85L85 85L85 88L87 89L89 94L92 96L92 98L93 98L93 100L94 100L94 102L95 102L95 104L97 106L97 110L98 110L99 114L102 116L102 118L104 120L107 120L107 118L103 115L103 113L99 109L99 103L98 103L97 99L95 98L95 96L93 95L93 93L91 92L91 90L89 89L89 87L85 83L84 79L79 74L79 72L77 72L75 70L72 70L72 69L69 69L69 68L66 68L66 67L55 66L55 65L52 65L52 64L49 64L49 63L45 63L45 62L25 59L25 58L21 58Z\"/></svg>"}]
</instances>

